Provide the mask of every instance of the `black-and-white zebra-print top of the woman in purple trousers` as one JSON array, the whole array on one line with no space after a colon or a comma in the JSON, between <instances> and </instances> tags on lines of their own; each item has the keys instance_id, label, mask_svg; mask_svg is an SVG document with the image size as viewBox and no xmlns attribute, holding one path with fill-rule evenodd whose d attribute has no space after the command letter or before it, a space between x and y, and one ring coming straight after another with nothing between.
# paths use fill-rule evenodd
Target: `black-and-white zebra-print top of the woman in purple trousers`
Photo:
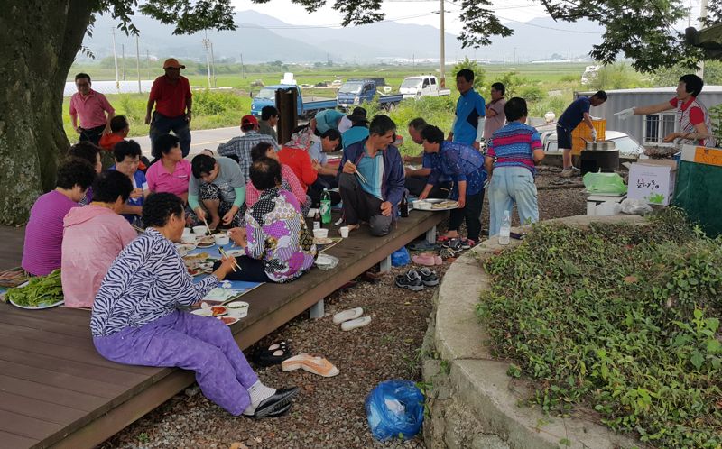
<instances>
[{"instance_id":1,"label":"black-and-white zebra-print top of the woman in purple trousers","mask_svg":"<svg viewBox=\"0 0 722 449\"><path fill-rule=\"evenodd\" d=\"M90 331L107 336L147 325L196 303L217 284L214 275L194 284L173 243L148 228L110 266L93 303Z\"/></svg>"}]
</instances>

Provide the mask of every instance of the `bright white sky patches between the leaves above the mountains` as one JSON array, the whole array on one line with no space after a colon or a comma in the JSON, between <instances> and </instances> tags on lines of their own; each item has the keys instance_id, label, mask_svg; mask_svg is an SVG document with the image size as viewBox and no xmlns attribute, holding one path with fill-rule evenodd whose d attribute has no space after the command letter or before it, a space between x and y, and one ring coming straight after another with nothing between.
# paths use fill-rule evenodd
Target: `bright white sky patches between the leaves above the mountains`
<instances>
[{"instance_id":1,"label":"bright white sky patches between the leaves above the mountains","mask_svg":"<svg viewBox=\"0 0 722 449\"><path fill-rule=\"evenodd\" d=\"M697 1L697 0L692 0ZM250 0L235 0L232 2L236 11L254 10L258 13L272 15L285 23L304 25L332 26L341 23L342 15L338 14L331 5L333 0L319 11L308 14L300 5L292 4L291 0L270 0L266 4L255 4ZM514 18L514 21L527 22L535 17L546 15L542 5L530 0L494 0L495 11L500 18ZM458 20L461 7L446 2L446 32L459 34L462 23ZM386 20L398 23L416 23L440 27L440 0L384 0L382 12ZM302 18L302 20L300 20ZM504 19L502 19L502 22Z\"/></svg>"}]
</instances>

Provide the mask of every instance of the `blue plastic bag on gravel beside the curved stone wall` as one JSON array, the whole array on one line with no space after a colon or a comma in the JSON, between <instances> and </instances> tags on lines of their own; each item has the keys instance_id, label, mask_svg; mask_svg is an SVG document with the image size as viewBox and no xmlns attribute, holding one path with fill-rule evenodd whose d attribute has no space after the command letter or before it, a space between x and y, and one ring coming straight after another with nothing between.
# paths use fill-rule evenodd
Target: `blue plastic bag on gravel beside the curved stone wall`
<instances>
[{"instance_id":1,"label":"blue plastic bag on gravel beside the curved stone wall","mask_svg":"<svg viewBox=\"0 0 722 449\"><path fill-rule=\"evenodd\" d=\"M377 440L408 440L423 423L423 393L411 380L386 380L366 397L366 419Z\"/></svg>"}]
</instances>

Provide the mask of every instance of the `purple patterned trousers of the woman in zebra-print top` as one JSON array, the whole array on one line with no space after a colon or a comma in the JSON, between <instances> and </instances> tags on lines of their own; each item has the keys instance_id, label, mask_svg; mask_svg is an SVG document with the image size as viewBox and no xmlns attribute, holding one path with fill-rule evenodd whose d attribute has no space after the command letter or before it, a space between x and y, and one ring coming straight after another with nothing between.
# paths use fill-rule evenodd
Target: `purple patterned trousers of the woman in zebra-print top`
<instances>
[{"instance_id":1,"label":"purple patterned trousers of the woman in zebra-print top","mask_svg":"<svg viewBox=\"0 0 722 449\"><path fill-rule=\"evenodd\" d=\"M147 325L93 337L93 344L113 362L195 371L206 398L234 416L251 403L248 389L258 380L228 326L208 316L177 310Z\"/></svg>"}]
</instances>

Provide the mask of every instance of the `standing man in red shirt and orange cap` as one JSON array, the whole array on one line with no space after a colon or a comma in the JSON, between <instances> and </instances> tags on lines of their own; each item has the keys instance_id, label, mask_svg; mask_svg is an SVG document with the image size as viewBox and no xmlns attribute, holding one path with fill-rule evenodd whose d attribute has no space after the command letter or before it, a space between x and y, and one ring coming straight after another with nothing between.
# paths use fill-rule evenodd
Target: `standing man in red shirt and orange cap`
<instances>
[{"instance_id":1,"label":"standing man in red shirt and orange cap","mask_svg":"<svg viewBox=\"0 0 722 449\"><path fill-rule=\"evenodd\" d=\"M189 124L193 105L188 78L180 76L180 69L185 68L186 66L181 66L175 58L163 62L165 75L153 81L145 112L145 124L151 125L151 147L158 137L172 131L180 140L180 151L184 158L190 151Z\"/></svg>"}]
</instances>

